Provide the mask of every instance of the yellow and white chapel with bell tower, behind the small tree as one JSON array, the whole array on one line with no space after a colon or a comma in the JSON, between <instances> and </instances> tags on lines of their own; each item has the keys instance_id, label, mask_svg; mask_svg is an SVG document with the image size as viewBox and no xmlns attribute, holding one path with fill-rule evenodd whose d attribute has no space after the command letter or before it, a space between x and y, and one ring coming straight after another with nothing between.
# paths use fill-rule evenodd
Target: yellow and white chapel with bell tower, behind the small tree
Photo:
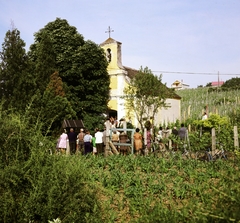
<instances>
[{"instance_id":1,"label":"yellow and white chapel with bell tower, behind the small tree","mask_svg":"<svg viewBox=\"0 0 240 223\"><path fill-rule=\"evenodd\" d=\"M128 85L131 78L138 72L137 69L124 66L122 64L122 43L114 40L109 36L107 40L100 44L106 53L108 64L108 74L110 75L110 101L108 103L108 116L114 117L117 120L125 119L131 120L134 126L139 126L134 114L128 117L128 111L124 107L124 88ZM166 87L164 85L164 87ZM167 88L167 87L166 87ZM154 123L156 126L173 123L179 120L181 115L181 97L169 89L169 98L166 103L168 108L162 108L158 114L154 117Z\"/></svg>"}]
</instances>

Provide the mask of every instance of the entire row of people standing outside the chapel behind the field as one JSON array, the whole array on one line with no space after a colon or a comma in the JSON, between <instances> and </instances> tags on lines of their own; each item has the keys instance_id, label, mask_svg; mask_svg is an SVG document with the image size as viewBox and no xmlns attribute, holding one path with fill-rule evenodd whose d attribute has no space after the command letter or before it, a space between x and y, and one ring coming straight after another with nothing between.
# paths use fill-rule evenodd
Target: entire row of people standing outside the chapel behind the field
<instances>
[{"instance_id":1,"label":"entire row of people standing outside the chapel behind the field","mask_svg":"<svg viewBox=\"0 0 240 223\"><path fill-rule=\"evenodd\" d=\"M163 139L168 139L170 134L179 138L180 140L185 140L187 133L187 128L184 124L181 124L179 130L176 127L172 129L172 131L167 127L163 129L159 128L157 132L156 139L159 143L163 142ZM151 151L152 142L154 141L154 136L150 129L147 129L146 132L146 145L144 145L143 134L140 133L140 129L136 128L135 133L133 135L134 140L134 153L139 155L143 153L143 149L146 147L148 151ZM125 132L118 132L114 130L111 134L110 140L113 145L116 145L116 149L120 154L126 155L128 153L129 146L127 145L119 145L118 143L127 143L129 141L128 136ZM91 134L89 130L80 129L77 133L73 128L70 128L70 131L67 133L66 129L63 130L60 135L56 151L58 153L66 153L66 150L69 146L70 154L78 154L86 155L92 153L93 155L104 154L104 148L106 145L106 130L100 131L98 128ZM176 143L173 144L173 147L177 147Z\"/></svg>"}]
</instances>

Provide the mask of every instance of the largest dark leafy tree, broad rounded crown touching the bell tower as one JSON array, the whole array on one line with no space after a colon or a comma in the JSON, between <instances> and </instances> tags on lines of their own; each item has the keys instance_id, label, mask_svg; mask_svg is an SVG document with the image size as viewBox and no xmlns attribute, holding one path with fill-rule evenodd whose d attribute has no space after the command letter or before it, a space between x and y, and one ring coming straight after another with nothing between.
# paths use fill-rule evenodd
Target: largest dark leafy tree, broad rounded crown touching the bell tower
<instances>
[{"instance_id":1,"label":"largest dark leafy tree, broad rounded crown touching the bell tower","mask_svg":"<svg viewBox=\"0 0 240 223\"><path fill-rule=\"evenodd\" d=\"M92 41L84 41L66 20L57 18L35 33L35 43L29 54L32 61L44 60L44 56L39 60L44 36L50 39L54 68L62 78L70 105L87 127L94 127L106 111L109 100L110 78L104 51Z\"/></svg>"}]
</instances>

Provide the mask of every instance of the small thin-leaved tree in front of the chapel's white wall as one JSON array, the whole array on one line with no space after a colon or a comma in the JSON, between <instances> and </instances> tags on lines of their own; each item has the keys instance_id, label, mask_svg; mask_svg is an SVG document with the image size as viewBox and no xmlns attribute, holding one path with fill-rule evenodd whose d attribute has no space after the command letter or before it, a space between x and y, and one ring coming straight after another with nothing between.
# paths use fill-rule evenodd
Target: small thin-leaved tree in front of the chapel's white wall
<instances>
[{"instance_id":1,"label":"small thin-leaved tree in front of the chapel's white wall","mask_svg":"<svg viewBox=\"0 0 240 223\"><path fill-rule=\"evenodd\" d=\"M154 76L150 69L141 67L125 87L123 98L127 110L134 112L143 130L144 118L154 118L160 108L167 107L166 98L172 93L162 84L161 76Z\"/></svg>"}]
</instances>

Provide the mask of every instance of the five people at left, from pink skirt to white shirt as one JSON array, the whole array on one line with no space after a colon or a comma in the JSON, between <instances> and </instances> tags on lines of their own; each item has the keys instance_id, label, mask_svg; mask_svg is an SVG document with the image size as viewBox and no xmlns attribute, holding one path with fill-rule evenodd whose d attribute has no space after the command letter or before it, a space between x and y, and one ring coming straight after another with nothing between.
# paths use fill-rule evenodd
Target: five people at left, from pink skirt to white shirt
<instances>
[{"instance_id":1,"label":"five people at left, from pink skirt to white shirt","mask_svg":"<svg viewBox=\"0 0 240 223\"><path fill-rule=\"evenodd\" d=\"M70 154L86 155L92 153L103 154L104 153L104 132L98 128L95 129L93 134L89 130L80 129L79 133L75 132L73 128L67 133L66 129L58 138L56 152L66 153L69 146Z\"/></svg>"}]
</instances>

